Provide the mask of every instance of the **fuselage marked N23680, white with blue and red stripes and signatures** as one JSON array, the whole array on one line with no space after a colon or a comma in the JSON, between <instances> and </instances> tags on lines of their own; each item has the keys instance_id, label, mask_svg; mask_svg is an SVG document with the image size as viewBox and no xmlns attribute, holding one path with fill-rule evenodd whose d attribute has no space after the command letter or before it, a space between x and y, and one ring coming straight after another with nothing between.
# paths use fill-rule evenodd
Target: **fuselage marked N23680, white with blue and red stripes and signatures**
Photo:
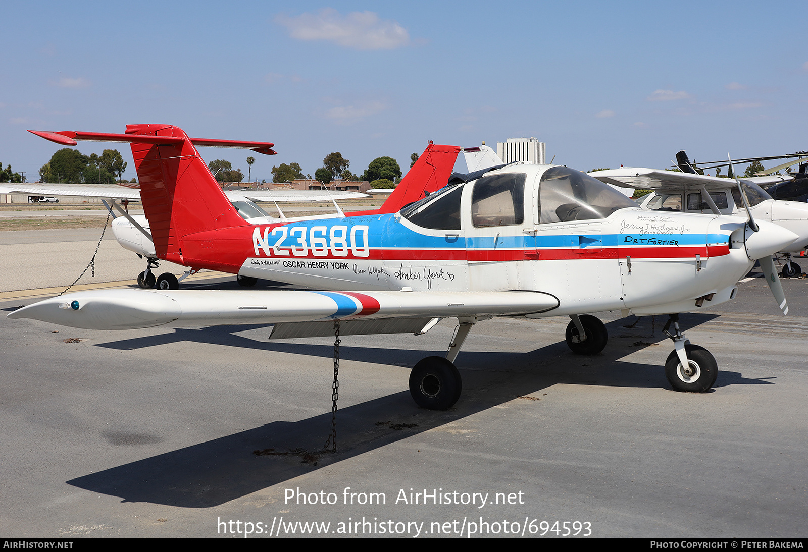
<instances>
[{"instance_id":1,"label":"fuselage marked N23680, white with blue and red stripes and signatures","mask_svg":"<svg viewBox=\"0 0 808 552\"><path fill-rule=\"evenodd\" d=\"M487 175L524 175L516 207L508 194L494 195L487 206L490 198L475 203L481 178L444 193L444 203L456 207L423 200L420 216L405 208L187 235L182 259L187 266L336 291L541 291L559 298L556 316L680 312L709 294L716 295L708 304L718 304L734 296L735 282L752 266L745 221L737 217L652 213L631 202L604 218L548 220L562 206L543 220L540 184L548 168L514 165ZM430 207L445 212L431 217ZM483 213L488 218L481 209L490 211Z\"/></svg>"}]
</instances>

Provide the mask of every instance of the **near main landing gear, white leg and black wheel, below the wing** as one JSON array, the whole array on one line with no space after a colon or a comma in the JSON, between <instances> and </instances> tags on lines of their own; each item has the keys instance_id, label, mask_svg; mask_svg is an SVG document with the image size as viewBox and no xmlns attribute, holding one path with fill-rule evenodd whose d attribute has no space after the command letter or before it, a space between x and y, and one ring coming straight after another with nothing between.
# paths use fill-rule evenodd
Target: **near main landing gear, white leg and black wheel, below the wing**
<instances>
[{"instance_id":1,"label":"near main landing gear, white leg and black wheel, below the wing","mask_svg":"<svg viewBox=\"0 0 808 552\"><path fill-rule=\"evenodd\" d=\"M454 360L477 320L459 318L457 321L460 324L455 328L446 358L423 358L410 372L410 395L419 407L448 410L460 399L463 381Z\"/></svg>"}]
</instances>

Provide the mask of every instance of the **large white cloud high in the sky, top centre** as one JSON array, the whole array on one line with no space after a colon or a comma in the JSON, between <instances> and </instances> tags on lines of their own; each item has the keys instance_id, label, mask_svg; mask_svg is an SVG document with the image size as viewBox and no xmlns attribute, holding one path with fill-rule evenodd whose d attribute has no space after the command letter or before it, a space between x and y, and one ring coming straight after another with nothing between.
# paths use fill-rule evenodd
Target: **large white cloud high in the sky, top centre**
<instances>
[{"instance_id":1,"label":"large white cloud high in the sky, top centre","mask_svg":"<svg viewBox=\"0 0 808 552\"><path fill-rule=\"evenodd\" d=\"M278 15L289 36L298 40L330 40L355 50L390 50L410 44L406 29L390 19L379 19L372 11L341 15L334 8L323 8L297 17Z\"/></svg>"}]
</instances>

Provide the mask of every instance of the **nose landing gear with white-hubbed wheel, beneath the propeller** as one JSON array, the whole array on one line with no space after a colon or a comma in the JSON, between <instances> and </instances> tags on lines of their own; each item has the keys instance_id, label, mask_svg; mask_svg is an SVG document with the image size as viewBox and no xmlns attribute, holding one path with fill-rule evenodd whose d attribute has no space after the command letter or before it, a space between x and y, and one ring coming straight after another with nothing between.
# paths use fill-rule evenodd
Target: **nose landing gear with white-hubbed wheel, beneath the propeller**
<instances>
[{"instance_id":1,"label":"nose landing gear with white-hubbed wheel, beneath the propeller","mask_svg":"<svg viewBox=\"0 0 808 552\"><path fill-rule=\"evenodd\" d=\"M665 362L665 377L674 391L705 393L718 378L718 362L704 347L690 345L679 328L679 315L671 314L663 332L673 340L675 349ZM674 332L668 332L673 324Z\"/></svg>"}]
</instances>

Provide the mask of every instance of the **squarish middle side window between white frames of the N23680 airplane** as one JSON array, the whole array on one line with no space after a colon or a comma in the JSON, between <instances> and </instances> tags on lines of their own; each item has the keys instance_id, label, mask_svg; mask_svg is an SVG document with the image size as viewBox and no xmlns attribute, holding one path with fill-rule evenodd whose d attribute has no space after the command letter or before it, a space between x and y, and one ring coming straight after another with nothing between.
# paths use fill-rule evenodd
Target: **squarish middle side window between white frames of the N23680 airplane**
<instances>
[{"instance_id":1,"label":"squarish middle side window between white frames of the N23680 airplane","mask_svg":"<svg viewBox=\"0 0 808 552\"><path fill-rule=\"evenodd\" d=\"M492 174L478 178L471 194L471 222L475 228L524 222L524 173Z\"/></svg>"}]
</instances>

